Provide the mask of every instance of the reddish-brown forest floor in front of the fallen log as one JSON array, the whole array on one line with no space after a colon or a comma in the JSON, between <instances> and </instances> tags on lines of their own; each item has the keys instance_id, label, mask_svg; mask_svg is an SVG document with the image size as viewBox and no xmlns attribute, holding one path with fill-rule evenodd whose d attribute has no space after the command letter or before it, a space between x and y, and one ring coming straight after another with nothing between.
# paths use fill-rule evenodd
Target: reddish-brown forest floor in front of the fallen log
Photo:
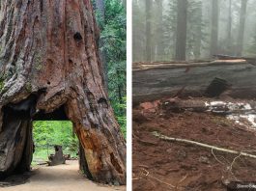
<instances>
[{"instance_id":1,"label":"reddish-brown forest floor in front of the fallen log","mask_svg":"<svg viewBox=\"0 0 256 191\"><path fill-rule=\"evenodd\" d=\"M158 132L256 154L253 127L211 112L166 111L158 103L147 102L133 108L134 191L226 190L231 181L255 180L256 159L160 140L153 135Z\"/></svg>"}]
</instances>

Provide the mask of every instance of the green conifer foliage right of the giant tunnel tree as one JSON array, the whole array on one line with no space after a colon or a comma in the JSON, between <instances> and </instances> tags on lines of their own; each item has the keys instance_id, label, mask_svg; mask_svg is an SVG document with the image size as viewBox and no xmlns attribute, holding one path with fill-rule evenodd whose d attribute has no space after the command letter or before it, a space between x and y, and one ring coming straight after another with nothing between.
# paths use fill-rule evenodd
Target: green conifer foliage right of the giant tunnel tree
<instances>
[{"instance_id":1,"label":"green conifer foliage right of the giant tunnel tree","mask_svg":"<svg viewBox=\"0 0 256 191\"><path fill-rule=\"evenodd\" d=\"M104 19L96 10L100 25L100 51L107 63L108 95L122 131L126 132L127 16L120 0L105 0ZM96 8L95 8L96 9Z\"/></svg>"}]
</instances>

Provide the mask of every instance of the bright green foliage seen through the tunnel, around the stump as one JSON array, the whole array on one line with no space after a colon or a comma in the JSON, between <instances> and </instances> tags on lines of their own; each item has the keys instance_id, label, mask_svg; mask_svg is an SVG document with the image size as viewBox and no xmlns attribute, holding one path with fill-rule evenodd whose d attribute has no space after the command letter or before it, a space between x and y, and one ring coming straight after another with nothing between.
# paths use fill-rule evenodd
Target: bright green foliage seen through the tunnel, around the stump
<instances>
[{"instance_id":1,"label":"bright green foliage seen through the tunnel, around the stump","mask_svg":"<svg viewBox=\"0 0 256 191\"><path fill-rule=\"evenodd\" d=\"M33 123L33 136L35 158L47 159L49 153L54 153L54 145L61 145L64 152L71 155L78 150L78 140L69 121L36 121Z\"/></svg>"}]
</instances>

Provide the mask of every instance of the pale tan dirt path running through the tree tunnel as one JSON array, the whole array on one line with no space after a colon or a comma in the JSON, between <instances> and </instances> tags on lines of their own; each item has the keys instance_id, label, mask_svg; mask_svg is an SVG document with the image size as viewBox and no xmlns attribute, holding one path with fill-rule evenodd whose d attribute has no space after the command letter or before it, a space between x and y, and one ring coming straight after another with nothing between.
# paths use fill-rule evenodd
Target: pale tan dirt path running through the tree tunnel
<instances>
[{"instance_id":1,"label":"pale tan dirt path running through the tree tunnel","mask_svg":"<svg viewBox=\"0 0 256 191\"><path fill-rule=\"evenodd\" d=\"M125 191L125 186L114 187L96 184L78 173L77 161L67 161L65 165L40 167L22 185L0 188L5 191Z\"/></svg>"}]
</instances>

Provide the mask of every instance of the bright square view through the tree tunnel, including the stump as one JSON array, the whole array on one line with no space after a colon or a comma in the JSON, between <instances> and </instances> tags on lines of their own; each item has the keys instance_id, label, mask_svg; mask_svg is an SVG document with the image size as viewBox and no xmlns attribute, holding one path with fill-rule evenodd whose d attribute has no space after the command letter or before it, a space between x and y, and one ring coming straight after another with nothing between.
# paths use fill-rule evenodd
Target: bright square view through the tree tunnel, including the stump
<instances>
[{"instance_id":1,"label":"bright square view through the tree tunnel, including the stump","mask_svg":"<svg viewBox=\"0 0 256 191\"><path fill-rule=\"evenodd\" d=\"M32 167L78 159L78 139L71 121L33 121L33 142Z\"/></svg>"}]
</instances>

